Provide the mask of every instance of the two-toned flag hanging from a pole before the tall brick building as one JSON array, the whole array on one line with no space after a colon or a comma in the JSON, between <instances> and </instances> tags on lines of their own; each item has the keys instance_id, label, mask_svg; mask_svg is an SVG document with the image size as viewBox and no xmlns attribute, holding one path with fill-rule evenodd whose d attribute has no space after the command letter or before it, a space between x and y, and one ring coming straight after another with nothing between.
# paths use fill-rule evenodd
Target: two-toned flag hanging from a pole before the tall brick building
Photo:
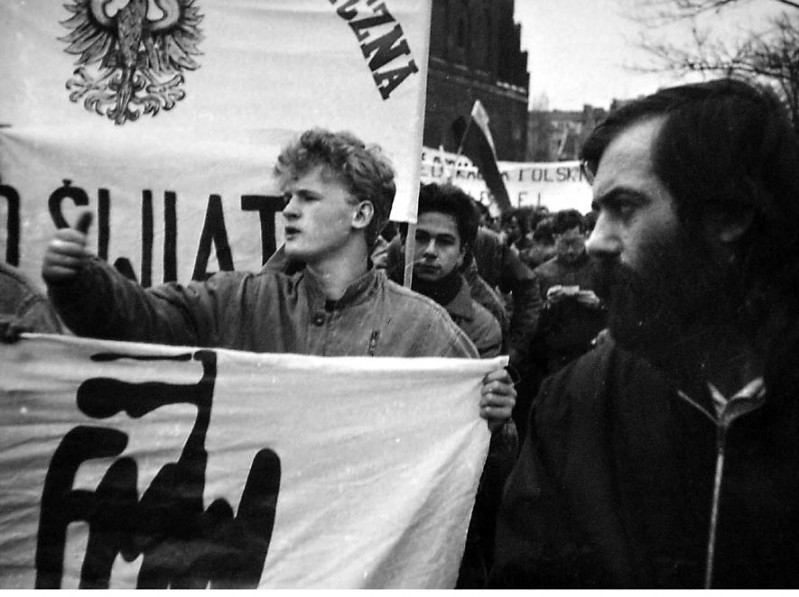
<instances>
[{"instance_id":1,"label":"two-toned flag hanging from a pole before the tall brick building","mask_svg":"<svg viewBox=\"0 0 799 597\"><path fill-rule=\"evenodd\" d=\"M474 123L477 126L471 126ZM460 151L471 158L483 179L486 186L494 196L500 210L505 211L511 208L508 191L505 188L505 181L499 171L497 164L497 154L494 149L494 140L491 137L491 130L488 127L488 114L480 103L475 100L469 120L458 117L451 127L452 134L458 142Z\"/></svg>"}]
</instances>

